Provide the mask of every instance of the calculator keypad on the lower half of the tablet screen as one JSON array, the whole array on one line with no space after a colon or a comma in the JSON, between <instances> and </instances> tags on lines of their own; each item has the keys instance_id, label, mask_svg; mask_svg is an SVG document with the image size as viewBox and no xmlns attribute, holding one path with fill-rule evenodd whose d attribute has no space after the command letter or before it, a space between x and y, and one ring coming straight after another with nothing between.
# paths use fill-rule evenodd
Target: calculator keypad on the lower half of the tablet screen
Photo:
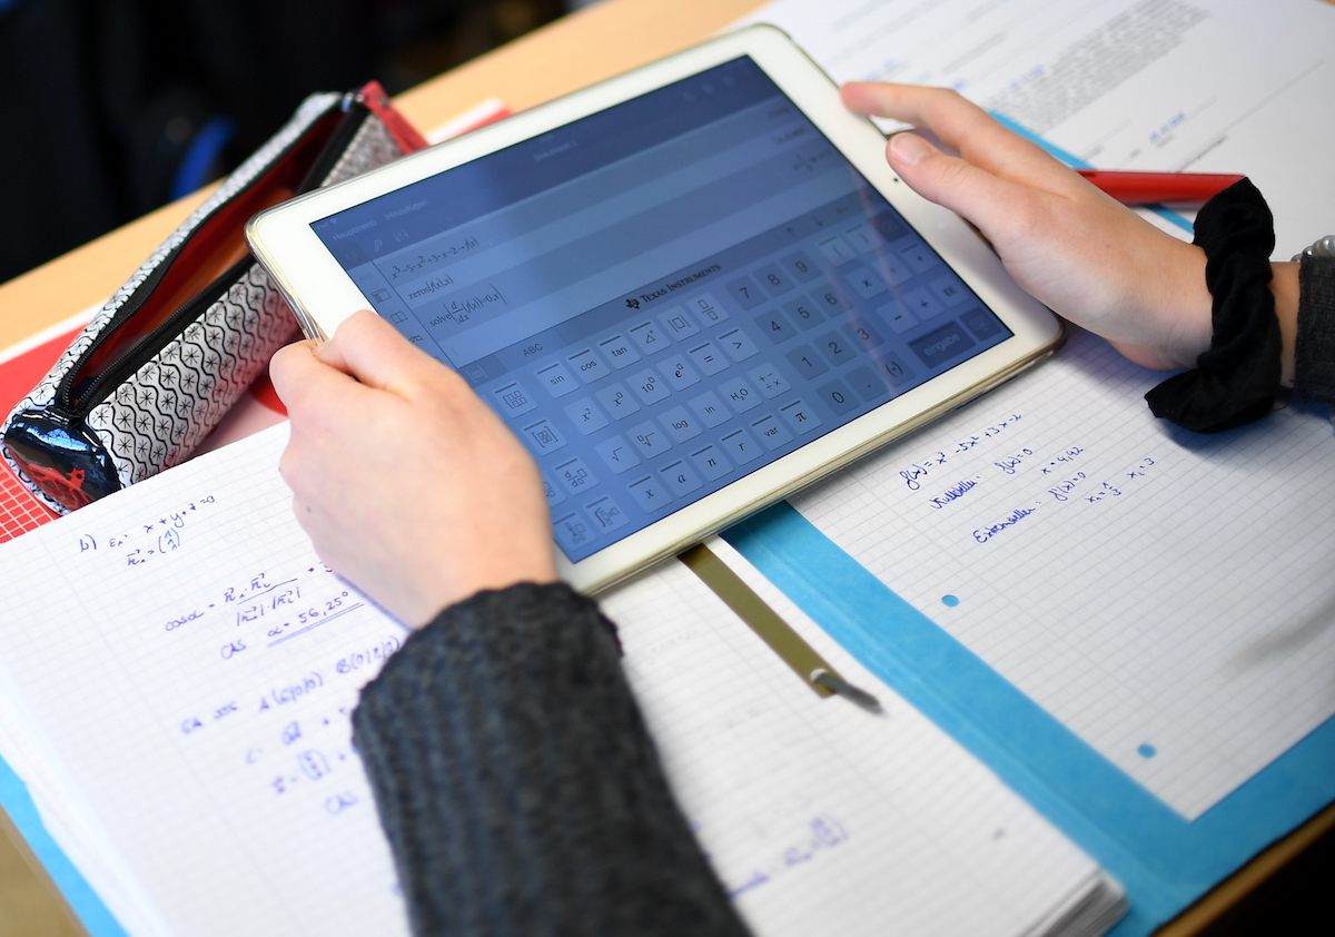
<instances>
[{"instance_id":1,"label":"calculator keypad on the lower half of the tablet screen","mask_svg":"<svg viewBox=\"0 0 1335 937\"><path fill-rule=\"evenodd\" d=\"M538 460L571 561L1009 336L888 206L868 218L854 202L706 258L700 286L672 294L669 276L593 310L581 318L606 328L474 382Z\"/></svg>"}]
</instances>

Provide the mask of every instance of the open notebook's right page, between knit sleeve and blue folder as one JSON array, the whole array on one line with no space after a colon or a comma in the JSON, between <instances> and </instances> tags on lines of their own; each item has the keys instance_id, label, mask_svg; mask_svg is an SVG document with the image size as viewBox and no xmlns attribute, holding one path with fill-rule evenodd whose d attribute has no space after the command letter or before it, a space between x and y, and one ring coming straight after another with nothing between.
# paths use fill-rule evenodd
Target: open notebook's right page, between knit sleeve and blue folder
<instances>
[{"instance_id":1,"label":"open notebook's right page, between knit sleeve and blue folder","mask_svg":"<svg viewBox=\"0 0 1335 937\"><path fill-rule=\"evenodd\" d=\"M885 707L817 697L680 563L603 601L686 818L756 933L1043 933L1099 885L996 775L710 549Z\"/></svg>"}]
</instances>

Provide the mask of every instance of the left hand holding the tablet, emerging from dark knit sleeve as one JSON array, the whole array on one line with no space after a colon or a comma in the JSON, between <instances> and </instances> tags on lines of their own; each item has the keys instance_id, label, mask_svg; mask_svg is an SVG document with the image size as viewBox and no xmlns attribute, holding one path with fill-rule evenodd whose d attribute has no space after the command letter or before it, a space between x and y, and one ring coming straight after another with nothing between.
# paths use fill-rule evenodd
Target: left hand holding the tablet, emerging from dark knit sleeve
<instances>
[{"instance_id":1,"label":"left hand holding the tablet, emerging from dark knit sleeve","mask_svg":"<svg viewBox=\"0 0 1335 937\"><path fill-rule=\"evenodd\" d=\"M270 366L279 466L320 558L407 625L482 589L554 582L538 468L465 380L372 312Z\"/></svg>"}]
</instances>

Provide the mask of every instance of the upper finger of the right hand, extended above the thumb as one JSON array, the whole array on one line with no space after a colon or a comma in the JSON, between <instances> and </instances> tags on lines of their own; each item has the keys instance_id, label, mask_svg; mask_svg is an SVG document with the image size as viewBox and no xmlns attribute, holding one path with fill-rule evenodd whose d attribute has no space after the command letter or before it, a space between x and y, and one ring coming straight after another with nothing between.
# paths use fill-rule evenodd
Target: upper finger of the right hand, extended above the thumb
<instances>
[{"instance_id":1,"label":"upper finger of the right hand, extended above the thumb","mask_svg":"<svg viewBox=\"0 0 1335 937\"><path fill-rule=\"evenodd\" d=\"M1041 147L1008 131L977 104L948 88L852 81L841 93L844 103L858 113L930 129L964 159L993 175L1049 190L1079 179Z\"/></svg>"}]
</instances>

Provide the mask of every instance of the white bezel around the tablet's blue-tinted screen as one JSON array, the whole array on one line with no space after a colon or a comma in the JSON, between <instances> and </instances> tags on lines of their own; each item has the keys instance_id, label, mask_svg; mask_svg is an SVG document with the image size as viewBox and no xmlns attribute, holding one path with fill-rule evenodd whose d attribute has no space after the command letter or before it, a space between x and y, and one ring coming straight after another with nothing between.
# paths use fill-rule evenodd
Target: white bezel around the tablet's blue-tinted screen
<instances>
[{"instance_id":1,"label":"white bezel around the tablet's blue-tinted screen","mask_svg":"<svg viewBox=\"0 0 1335 937\"><path fill-rule=\"evenodd\" d=\"M862 176L912 224L1011 330L1012 338L961 362L805 446L686 505L577 563L557 547L563 579L594 593L680 553L725 526L848 464L937 415L963 406L1051 354L1060 319L1025 294L987 243L953 212L905 186L885 162L885 137L840 101L838 89L786 33L756 25L533 108L457 140L414 153L338 186L256 215L246 236L314 340L371 303L311 228L314 222L445 172L573 120L740 56L792 99Z\"/></svg>"}]
</instances>

